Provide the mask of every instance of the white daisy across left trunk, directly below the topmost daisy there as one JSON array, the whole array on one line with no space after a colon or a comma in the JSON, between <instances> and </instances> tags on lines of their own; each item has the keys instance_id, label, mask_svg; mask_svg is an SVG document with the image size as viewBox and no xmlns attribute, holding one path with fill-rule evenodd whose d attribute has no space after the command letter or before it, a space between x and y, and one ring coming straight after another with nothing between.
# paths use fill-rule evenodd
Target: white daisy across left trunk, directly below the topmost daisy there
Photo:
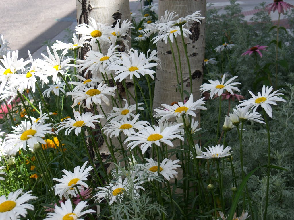
<instances>
[{"instance_id":1,"label":"white daisy across left trunk, directly below the topmost daisy there","mask_svg":"<svg viewBox=\"0 0 294 220\"><path fill-rule=\"evenodd\" d=\"M81 69L79 71L81 72L86 69L84 76L86 76L88 71L91 71L94 75L96 75L98 71L109 74L109 65L120 59L120 52L116 50L118 46L119 45L111 45L108 48L106 55L103 55L98 51L90 50L85 55L84 60L76 61L77 63L80 63L79 67L81 67Z\"/></svg>"}]
</instances>

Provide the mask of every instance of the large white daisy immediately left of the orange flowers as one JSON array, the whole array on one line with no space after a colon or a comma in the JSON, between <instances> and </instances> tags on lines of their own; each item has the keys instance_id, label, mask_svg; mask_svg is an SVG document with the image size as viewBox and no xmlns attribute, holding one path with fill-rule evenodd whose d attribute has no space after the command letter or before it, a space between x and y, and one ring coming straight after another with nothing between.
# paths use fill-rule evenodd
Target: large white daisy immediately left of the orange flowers
<instances>
[{"instance_id":1,"label":"large white daisy immediately left of the orange flowers","mask_svg":"<svg viewBox=\"0 0 294 220\"><path fill-rule=\"evenodd\" d=\"M26 150L26 145L29 149L34 149L34 145L38 142L46 144L43 140L46 134L54 134L51 124L31 123L29 121L21 121L17 127L12 127L14 131L6 135L6 144L13 146L12 152L16 152L19 148Z\"/></svg>"}]
</instances>

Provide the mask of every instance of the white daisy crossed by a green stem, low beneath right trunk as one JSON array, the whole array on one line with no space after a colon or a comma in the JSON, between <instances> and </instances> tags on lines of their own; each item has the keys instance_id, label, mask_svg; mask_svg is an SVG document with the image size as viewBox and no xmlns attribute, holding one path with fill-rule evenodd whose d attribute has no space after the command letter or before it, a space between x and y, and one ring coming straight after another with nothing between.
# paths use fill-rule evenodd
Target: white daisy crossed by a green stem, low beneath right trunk
<instances>
[{"instance_id":1,"label":"white daisy crossed by a green stem, low beneath right trunk","mask_svg":"<svg viewBox=\"0 0 294 220\"><path fill-rule=\"evenodd\" d=\"M146 163L146 170L149 174L151 174L148 177L148 181L153 180L153 176L158 176L158 163L157 161L154 161L152 158L151 159L147 159ZM178 172L175 171L174 169L176 169L177 167L181 167L181 165L178 165L178 162L180 162L180 160L169 160L167 158L164 158L163 161L159 164L159 173L161 175L163 175L163 177L166 180L171 180L170 178L174 178L174 175L178 175Z\"/></svg>"}]
</instances>

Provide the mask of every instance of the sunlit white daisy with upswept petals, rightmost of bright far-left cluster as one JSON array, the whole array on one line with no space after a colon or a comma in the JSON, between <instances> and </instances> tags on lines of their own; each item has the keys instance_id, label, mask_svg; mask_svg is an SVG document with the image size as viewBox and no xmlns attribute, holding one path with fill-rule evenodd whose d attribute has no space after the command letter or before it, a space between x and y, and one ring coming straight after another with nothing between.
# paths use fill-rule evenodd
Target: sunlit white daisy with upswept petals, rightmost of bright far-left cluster
<instances>
[{"instance_id":1,"label":"sunlit white daisy with upswept petals, rightmost of bright far-left cluster","mask_svg":"<svg viewBox=\"0 0 294 220\"><path fill-rule=\"evenodd\" d=\"M59 57L55 48L53 48L54 56L50 52L49 47L47 47L47 53L49 57L41 53L45 60L37 59L36 65L44 72L46 77L52 76L53 82L60 82L61 77L58 74L66 75L66 68L73 66L73 64L69 63L73 58L63 60L64 54Z\"/></svg>"}]
</instances>

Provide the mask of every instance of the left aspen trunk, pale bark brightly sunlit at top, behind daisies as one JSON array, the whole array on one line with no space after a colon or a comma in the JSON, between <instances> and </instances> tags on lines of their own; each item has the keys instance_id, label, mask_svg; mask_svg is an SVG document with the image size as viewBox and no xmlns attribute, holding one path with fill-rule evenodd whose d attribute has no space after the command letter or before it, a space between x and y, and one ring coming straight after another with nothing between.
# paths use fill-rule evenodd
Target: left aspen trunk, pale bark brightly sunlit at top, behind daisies
<instances>
[{"instance_id":1,"label":"left aspen trunk, pale bark brightly sunlit at top, behind daisies","mask_svg":"<svg viewBox=\"0 0 294 220\"><path fill-rule=\"evenodd\" d=\"M121 23L126 19L131 21L131 14L130 14L130 7L129 7L128 0L76 0L76 4L77 4L77 22L78 22L78 24L82 24L82 23L88 24L88 18L94 18L94 20L96 22L106 24L108 26L111 26L111 25L114 26L118 19L121 19ZM130 47L131 39L127 39L127 40L129 41L129 47ZM105 52L107 52L109 46L110 45L105 44L104 47L101 48L103 54L105 54ZM124 49L125 49L125 45L122 45L122 48L120 48L120 50L123 51ZM92 50L98 51L98 45L93 47ZM84 55L86 55L87 52L88 52L88 48L86 48L86 47L79 50L78 59L83 59ZM82 76L83 76L83 74L84 74L83 72L80 73L80 75L82 75ZM91 76L92 76L91 71L89 71L88 74L86 75L86 78L87 79L91 78ZM104 76L106 77L106 74L104 74ZM98 74L98 77L103 78L100 73ZM113 87L115 85L115 83L112 81L110 76L108 77L108 82L109 82L108 86ZM105 82L105 83L107 83L107 82ZM127 84L128 89L131 91L131 93L134 94L133 83L127 82L126 84ZM125 92L125 89L121 83L117 84L117 89L119 91L121 99L122 98L126 99L126 92ZM110 100L110 103L112 103L111 97L108 97L108 98ZM118 97L116 96L115 98L117 99ZM131 102L133 103L134 101L132 100ZM119 105L119 102L118 102L118 105ZM105 114L110 113L110 111L113 108L112 104L110 106L107 106L103 102L102 102L101 107L102 107L103 111L105 112ZM119 107L121 107L121 106L119 106ZM93 109L85 109L85 111L91 111L92 113L94 113ZM98 114L103 114L102 110L100 109L99 106L97 106L97 111L98 111ZM104 126L104 124L106 123L106 119L104 118L104 119L101 119L100 121L101 121L102 126ZM101 134L101 130L97 125L96 125L95 129L99 129L99 131L96 131L94 135ZM116 139L117 138L113 138L113 145L115 147L119 147L119 143ZM101 138L97 139L96 141L98 141L101 157L102 157L103 161L105 161L110 156L110 152L109 152L106 144L104 143L102 136L101 136ZM91 143L91 140L87 140L87 143ZM89 145L88 150L89 150L89 153L91 155L92 160L94 160L95 154L93 151L92 144ZM112 163L104 164L104 166L106 167L108 172L110 172L114 168Z\"/></svg>"}]
</instances>

